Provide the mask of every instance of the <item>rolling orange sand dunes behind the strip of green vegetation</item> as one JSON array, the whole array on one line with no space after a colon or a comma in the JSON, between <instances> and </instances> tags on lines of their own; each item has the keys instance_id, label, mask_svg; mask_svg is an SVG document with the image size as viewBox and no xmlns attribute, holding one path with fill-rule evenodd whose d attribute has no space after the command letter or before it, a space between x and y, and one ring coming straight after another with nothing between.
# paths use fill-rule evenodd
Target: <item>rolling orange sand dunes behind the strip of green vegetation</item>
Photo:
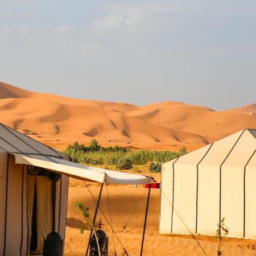
<instances>
[{"instance_id":1,"label":"rolling orange sand dunes behind the strip of green vegetation","mask_svg":"<svg viewBox=\"0 0 256 256\"><path fill-rule=\"evenodd\" d=\"M35 93L0 82L0 122L63 149L74 141L135 148L189 150L246 127L256 129L256 104L216 112L181 102L135 106ZM246 114L244 114L246 113Z\"/></svg>"}]
</instances>

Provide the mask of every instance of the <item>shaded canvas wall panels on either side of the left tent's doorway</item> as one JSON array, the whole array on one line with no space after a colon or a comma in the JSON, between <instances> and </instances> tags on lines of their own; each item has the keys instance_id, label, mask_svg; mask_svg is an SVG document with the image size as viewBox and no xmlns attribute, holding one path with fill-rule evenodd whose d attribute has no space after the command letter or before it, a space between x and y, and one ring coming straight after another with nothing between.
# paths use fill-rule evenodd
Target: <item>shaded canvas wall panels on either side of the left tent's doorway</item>
<instances>
[{"instance_id":1,"label":"shaded canvas wall panels on either side of the left tent's doorway","mask_svg":"<svg viewBox=\"0 0 256 256\"><path fill-rule=\"evenodd\" d=\"M0 255L29 255L27 166L15 164L13 155L0 153ZM68 177L56 184L56 232L65 235Z\"/></svg>"}]
</instances>

